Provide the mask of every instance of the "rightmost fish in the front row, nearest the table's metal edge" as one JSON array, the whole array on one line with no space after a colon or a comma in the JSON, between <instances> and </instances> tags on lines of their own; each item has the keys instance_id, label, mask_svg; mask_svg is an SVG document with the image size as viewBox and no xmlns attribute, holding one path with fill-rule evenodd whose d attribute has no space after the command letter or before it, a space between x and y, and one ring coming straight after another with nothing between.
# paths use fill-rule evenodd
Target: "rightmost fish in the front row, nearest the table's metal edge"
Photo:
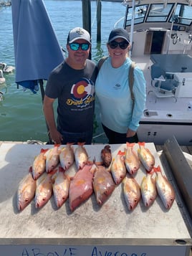
<instances>
[{"instance_id":1,"label":"rightmost fish in the front row, nearest the table's metal edge","mask_svg":"<svg viewBox=\"0 0 192 256\"><path fill-rule=\"evenodd\" d=\"M173 186L171 186L168 179L162 174L160 166L154 167L155 171L155 185L158 191L158 195L162 200L166 209L170 209L173 205L173 202L176 198L175 191L173 190Z\"/></svg>"}]
</instances>

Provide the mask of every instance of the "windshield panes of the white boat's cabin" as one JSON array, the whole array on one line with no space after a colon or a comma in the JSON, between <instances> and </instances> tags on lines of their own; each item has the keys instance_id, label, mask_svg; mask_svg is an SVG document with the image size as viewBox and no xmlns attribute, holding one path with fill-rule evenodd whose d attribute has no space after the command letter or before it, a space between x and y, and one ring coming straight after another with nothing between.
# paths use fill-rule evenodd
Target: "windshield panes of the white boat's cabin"
<instances>
[{"instance_id":1,"label":"windshield panes of the white boat's cabin","mask_svg":"<svg viewBox=\"0 0 192 256\"><path fill-rule=\"evenodd\" d=\"M141 23L175 23L178 26L189 27L192 24L192 6L185 4L143 4L133 7L127 6L124 27L131 26L134 15L134 24Z\"/></svg>"}]
</instances>

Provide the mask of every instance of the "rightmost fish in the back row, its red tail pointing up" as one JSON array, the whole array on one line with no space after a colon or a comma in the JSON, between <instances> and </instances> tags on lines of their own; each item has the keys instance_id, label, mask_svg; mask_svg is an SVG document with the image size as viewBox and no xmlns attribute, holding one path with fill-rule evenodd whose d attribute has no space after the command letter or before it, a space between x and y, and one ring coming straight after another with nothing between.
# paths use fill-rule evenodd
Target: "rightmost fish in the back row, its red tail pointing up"
<instances>
[{"instance_id":1,"label":"rightmost fish in the back row, its red tail pointing up","mask_svg":"<svg viewBox=\"0 0 192 256\"><path fill-rule=\"evenodd\" d=\"M138 142L138 156L145 170L150 172L155 166L155 158L148 148L145 148L145 142Z\"/></svg>"}]
</instances>

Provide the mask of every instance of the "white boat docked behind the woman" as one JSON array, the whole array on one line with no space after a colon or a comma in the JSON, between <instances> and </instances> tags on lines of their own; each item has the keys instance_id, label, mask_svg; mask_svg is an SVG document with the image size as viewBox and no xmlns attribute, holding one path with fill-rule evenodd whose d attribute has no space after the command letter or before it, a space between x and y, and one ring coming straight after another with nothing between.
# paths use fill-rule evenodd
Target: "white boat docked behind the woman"
<instances>
[{"instance_id":1,"label":"white boat docked behind the woman","mask_svg":"<svg viewBox=\"0 0 192 256\"><path fill-rule=\"evenodd\" d=\"M179 145L192 146L192 0L123 4L124 28L133 45L130 57L147 84L138 139L163 145L174 135ZM154 68L162 75L152 80Z\"/></svg>"}]
</instances>

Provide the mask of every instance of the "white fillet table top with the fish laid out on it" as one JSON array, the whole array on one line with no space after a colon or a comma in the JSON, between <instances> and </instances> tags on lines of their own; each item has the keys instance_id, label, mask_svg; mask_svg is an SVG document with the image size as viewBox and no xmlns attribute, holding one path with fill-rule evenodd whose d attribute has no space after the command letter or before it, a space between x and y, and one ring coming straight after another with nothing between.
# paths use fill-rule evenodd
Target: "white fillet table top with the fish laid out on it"
<instances>
[{"instance_id":1,"label":"white fillet table top with the fish laid out on it","mask_svg":"<svg viewBox=\"0 0 192 256\"><path fill-rule=\"evenodd\" d=\"M96 161L100 161L100 151L104 146L101 144L85 146L90 160L96 157ZM110 146L112 155L115 156L119 150L124 151L126 145ZM154 144L146 143L145 146L155 156L155 166L160 165L163 172L166 171L163 169ZM29 166L32 165L34 157L39 154L41 148L51 147L53 146L18 143L2 143L0 146L1 251L6 253L11 250L9 252L11 255L12 250L15 252L23 250L23 245L27 248L31 245L36 245L36 247L44 245L48 248L50 244L54 246L84 245L85 247L87 245L116 245L118 248L125 245L137 245L138 249L141 245L147 245L149 248L160 246L163 249L162 245L165 245L167 248L165 252L171 253L168 248L176 245L176 252L178 251L178 255L181 255L182 252L179 250L182 245L187 248L191 245L191 235L178 207L179 204L182 204L182 202L178 202L179 199L176 198L171 209L165 209L159 196L149 208L146 208L140 200L138 206L130 212L125 204L122 184L115 188L102 207L97 205L95 194L92 194L87 202L75 209L74 212L70 212L68 200L61 208L57 209L52 196L42 209L35 209L34 201L32 201L22 212L18 212L16 191L19 181L27 174ZM135 150L137 148L138 144L135 144ZM70 174L75 174L75 163L69 171ZM165 174L168 176L167 172ZM135 175L138 184L143 176L145 176L145 169L141 166ZM14 245L13 249L10 249L9 245ZM186 247L183 250L183 255L186 255ZM47 252L49 251L50 249ZM153 252L151 253L153 255ZM22 251L21 254L18 252L13 255L20 256L25 253ZM49 253L42 255L49 255ZM85 255L85 253L77 255ZM87 255L89 254L87 253ZM92 253L92 255L97 255L97 253ZM140 255L142 254L140 253Z\"/></svg>"}]
</instances>

